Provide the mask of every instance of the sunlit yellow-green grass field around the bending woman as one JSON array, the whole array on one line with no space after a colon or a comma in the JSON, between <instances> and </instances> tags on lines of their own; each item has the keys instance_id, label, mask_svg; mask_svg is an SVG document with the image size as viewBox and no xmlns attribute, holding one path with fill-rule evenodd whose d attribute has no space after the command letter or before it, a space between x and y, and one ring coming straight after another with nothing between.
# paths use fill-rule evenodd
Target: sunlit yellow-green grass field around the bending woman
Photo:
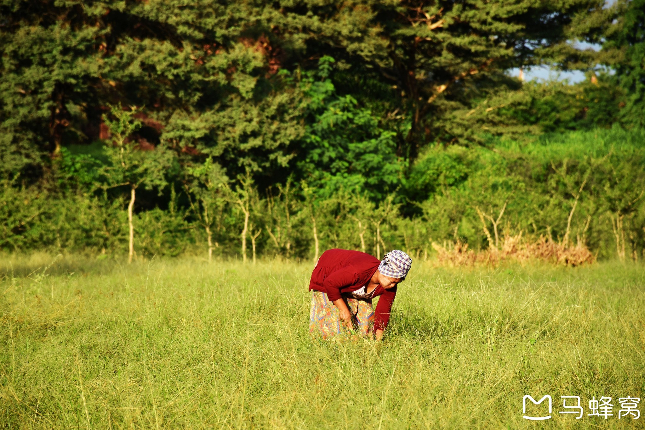
<instances>
[{"instance_id":1,"label":"sunlit yellow-green grass field around the bending woman","mask_svg":"<svg viewBox=\"0 0 645 430\"><path fill-rule=\"evenodd\" d=\"M3 428L645 428L643 266L415 263L375 344L310 340L311 264L52 260L0 259Z\"/></svg>"}]
</instances>

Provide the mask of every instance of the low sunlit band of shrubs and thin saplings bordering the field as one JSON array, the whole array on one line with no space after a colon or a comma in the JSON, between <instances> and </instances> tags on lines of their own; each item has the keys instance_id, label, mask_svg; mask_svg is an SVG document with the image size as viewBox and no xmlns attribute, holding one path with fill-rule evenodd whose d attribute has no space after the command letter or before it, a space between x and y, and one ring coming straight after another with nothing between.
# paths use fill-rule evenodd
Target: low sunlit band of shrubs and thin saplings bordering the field
<instances>
[{"instance_id":1,"label":"low sunlit band of shrubs and thin saplings bordering the field","mask_svg":"<svg viewBox=\"0 0 645 430\"><path fill-rule=\"evenodd\" d=\"M433 243L497 249L520 234L565 248L585 244L599 258L644 257L642 131L498 141L494 151L434 146L379 202L342 188L321 196L306 181L261 187L250 175L227 180L213 164L152 190L79 183L97 171L95 163L64 151L52 189L5 181L1 248L126 255L135 190L133 246L146 257L313 259L340 247L374 255L401 248L419 259L432 256Z\"/></svg>"}]
</instances>

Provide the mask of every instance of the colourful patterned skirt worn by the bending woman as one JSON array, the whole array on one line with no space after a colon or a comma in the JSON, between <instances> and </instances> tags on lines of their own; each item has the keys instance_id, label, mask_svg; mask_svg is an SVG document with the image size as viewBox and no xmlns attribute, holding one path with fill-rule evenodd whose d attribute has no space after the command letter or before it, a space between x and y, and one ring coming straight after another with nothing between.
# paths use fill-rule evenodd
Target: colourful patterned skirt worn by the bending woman
<instances>
[{"instance_id":1,"label":"colourful patterned skirt worn by the bending woman","mask_svg":"<svg viewBox=\"0 0 645 430\"><path fill-rule=\"evenodd\" d=\"M374 309L372 300L345 298L345 303L353 315L354 329L357 333L372 335L374 326ZM312 337L328 339L348 330L341 321L340 311L330 302L326 293L312 290L312 309L309 316L309 334Z\"/></svg>"}]
</instances>

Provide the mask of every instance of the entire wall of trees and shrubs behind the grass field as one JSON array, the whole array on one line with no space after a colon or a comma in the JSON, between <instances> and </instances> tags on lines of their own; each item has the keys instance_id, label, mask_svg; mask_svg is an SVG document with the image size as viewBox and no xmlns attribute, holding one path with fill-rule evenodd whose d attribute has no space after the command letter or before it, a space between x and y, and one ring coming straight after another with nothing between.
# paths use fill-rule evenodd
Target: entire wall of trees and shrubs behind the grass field
<instances>
[{"instance_id":1,"label":"entire wall of trees and shrubs behind the grass field","mask_svg":"<svg viewBox=\"0 0 645 430\"><path fill-rule=\"evenodd\" d=\"M421 256L521 234L636 258L644 23L645 0L5 1L0 248ZM545 64L586 80L509 73Z\"/></svg>"}]
</instances>

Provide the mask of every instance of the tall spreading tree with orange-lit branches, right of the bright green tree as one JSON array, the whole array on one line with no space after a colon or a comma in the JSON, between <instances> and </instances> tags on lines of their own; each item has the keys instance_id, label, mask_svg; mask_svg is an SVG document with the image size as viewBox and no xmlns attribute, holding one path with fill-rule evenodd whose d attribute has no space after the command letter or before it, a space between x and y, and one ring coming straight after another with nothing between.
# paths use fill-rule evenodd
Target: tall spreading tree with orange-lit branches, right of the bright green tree
<instances>
[{"instance_id":1,"label":"tall spreading tree with orange-lit branches, right of the bright green tree","mask_svg":"<svg viewBox=\"0 0 645 430\"><path fill-rule=\"evenodd\" d=\"M399 155L414 160L435 139L477 141L482 132L512 131L500 109L523 96L506 70L592 66L597 54L569 41L599 40L614 13L603 6L602 0L320 6L311 54L339 61L346 70L342 88L356 99L379 101L377 115L397 131Z\"/></svg>"}]
</instances>

